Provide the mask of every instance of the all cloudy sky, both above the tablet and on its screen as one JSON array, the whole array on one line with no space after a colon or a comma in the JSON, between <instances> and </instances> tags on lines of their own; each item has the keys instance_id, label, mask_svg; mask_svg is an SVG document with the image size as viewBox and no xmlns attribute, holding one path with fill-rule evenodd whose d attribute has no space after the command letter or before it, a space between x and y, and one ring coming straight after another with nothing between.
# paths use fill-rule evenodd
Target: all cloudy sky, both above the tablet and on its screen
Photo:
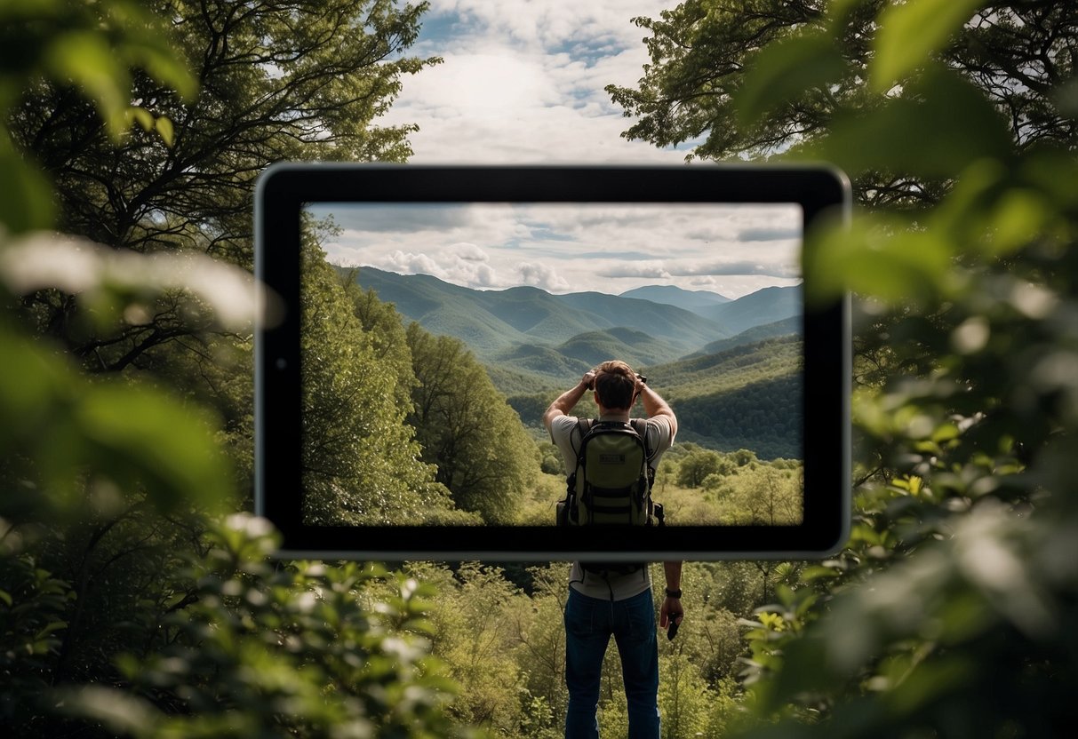
<instances>
[{"instance_id":1,"label":"all cloudy sky, both above the tablet and on its screen","mask_svg":"<svg viewBox=\"0 0 1078 739\"><path fill-rule=\"evenodd\" d=\"M658 17L673 2L430 0L407 53L444 61L405 76L379 123L418 124L417 164L690 166L687 144L660 150L621 137L633 121L604 89L636 85L647 32L632 18ZM332 262L471 288L620 294L674 284L736 298L798 282L800 211L790 208L313 210L332 212L342 229L323 245Z\"/></svg>"}]
</instances>

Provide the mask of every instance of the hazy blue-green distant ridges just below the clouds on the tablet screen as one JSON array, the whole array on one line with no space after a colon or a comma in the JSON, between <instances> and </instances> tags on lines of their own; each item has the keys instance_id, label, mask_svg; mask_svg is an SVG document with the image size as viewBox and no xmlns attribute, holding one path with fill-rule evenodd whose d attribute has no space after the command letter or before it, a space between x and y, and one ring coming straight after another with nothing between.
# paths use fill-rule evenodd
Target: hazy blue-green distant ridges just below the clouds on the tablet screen
<instances>
[{"instance_id":1,"label":"hazy blue-green distant ridges just below the clouds on the tablet screen","mask_svg":"<svg viewBox=\"0 0 1078 739\"><path fill-rule=\"evenodd\" d=\"M800 287L765 288L731 301L669 285L622 295L556 295L533 287L473 290L430 275L398 275L373 267L355 269L354 279L392 303L405 320L459 338L481 360L519 361L524 370L563 380L555 365L564 362L548 365L554 359L550 352L588 366L626 354L630 363L654 364L794 318L801 309Z\"/></svg>"}]
</instances>

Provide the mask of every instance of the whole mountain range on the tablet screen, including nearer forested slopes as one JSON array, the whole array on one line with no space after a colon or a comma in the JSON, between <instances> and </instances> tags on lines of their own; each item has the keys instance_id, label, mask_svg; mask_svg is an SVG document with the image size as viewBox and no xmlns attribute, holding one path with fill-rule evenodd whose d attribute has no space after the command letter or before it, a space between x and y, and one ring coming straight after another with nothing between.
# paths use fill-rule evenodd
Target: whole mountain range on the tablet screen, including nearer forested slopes
<instances>
[{"instance_id":1,"label":"whole mountain range on the tablet screen, including nearer forested slopes","mask_svg":"<svg viewBox=\"0 0 1078 739\"><path fill-rule=\"evenodd\" d=\"M541 426L551 393L620 358L654 374L686 421L683 441L761 458L800 456L800 287L737 299L669 285L556 295L337 269L392 303L405 322L464 341L526 424Z\"/></svg>"}]
</instances>

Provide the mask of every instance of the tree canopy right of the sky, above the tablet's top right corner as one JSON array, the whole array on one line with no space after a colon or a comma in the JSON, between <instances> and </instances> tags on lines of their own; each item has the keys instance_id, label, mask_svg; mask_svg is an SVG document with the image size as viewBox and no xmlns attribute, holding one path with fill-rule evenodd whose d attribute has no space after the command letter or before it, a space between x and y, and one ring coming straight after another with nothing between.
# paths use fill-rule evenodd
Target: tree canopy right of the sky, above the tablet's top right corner
<instances>
[{"instance_id":1,"label":"tree canopy right of the sky, above the tablet's top right corner","mask_svg":"<svg viewBox=\"0 0 1078 739\"><path fill-rule=\"evenodd\" d=\"M999 154L1008 141L1018 151L1075 145L1075 121L1056 104L1078 43L1073 3L909 4L688 0L635 18L651 60L637 86L607 87L635 118L622 136L685 144L687 158L806 151L843 167L872 207L938 203L957 156ZM959 97L926 94L929 81L916 74L926 51L977 92L956 82ZM999 121L970 126L949 115L979 107ZM883 109L900 129L880 127Z\"/></svg>"}]
</instances>

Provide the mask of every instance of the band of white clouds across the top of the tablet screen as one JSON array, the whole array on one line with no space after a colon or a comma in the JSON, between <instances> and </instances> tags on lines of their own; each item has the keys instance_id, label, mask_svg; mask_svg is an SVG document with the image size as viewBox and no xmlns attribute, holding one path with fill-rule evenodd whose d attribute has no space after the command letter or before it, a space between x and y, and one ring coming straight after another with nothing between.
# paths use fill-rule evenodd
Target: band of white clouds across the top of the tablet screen
<instances>
[{"instance_id":1,"label":"band of white clouds across the top of the tablet screen","mask_svg":"<svg viewBox=\"0 0 1078 739\"><path fill-rule=\"evenodd\" d=\"M620 293L660 283L736 297L799 280L797 239L740 238L760 224L787 233L800 215L786 206L379 204L318 212L346 226L326 245L332 261L472 288Z\"/></svg>"}]
</instances>

